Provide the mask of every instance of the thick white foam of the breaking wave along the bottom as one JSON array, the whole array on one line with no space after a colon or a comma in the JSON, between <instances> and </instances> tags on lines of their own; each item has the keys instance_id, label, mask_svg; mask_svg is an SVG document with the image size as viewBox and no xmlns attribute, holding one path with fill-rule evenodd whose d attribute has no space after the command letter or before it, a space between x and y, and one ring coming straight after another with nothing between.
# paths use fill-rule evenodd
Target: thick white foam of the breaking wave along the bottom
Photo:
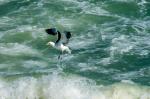
<instances>
[{"instance_id":1,"label":"thick white foam of the breaking wave along the bottom","mask_svg":"<svg viewBox=\"0 0 150 99\"><path fill-rule=\"evenodd\" d=\"M91 80L58 75L0 80L0 99L150 99L150 88L134 83L96 85Z\"/></svg>"}]
</instances>

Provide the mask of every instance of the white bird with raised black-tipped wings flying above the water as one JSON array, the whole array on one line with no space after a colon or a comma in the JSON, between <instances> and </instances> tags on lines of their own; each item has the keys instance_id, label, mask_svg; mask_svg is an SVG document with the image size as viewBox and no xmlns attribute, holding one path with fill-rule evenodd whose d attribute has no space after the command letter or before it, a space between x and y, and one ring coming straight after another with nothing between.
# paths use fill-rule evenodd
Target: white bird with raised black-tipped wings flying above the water
<instances>
[{"instance_id":1,"label":"white bird with raised black-tipped wings flying above the water","mask_svg":"<svg viewBox=\"0 0 150 99\"><path fill-rule=\"evenodd\" d=\"M50 28L45 29L45 32L49 35L57 35L57 40L55 42L49 41L47 45L61 51L61 54L58 56L58 58L60 58L64 52L71 54L71 49L67 46L69 39L71 38L70 31L64 31L63 33L60 33L56 28Z\"/></svg>"}]
</instances>

